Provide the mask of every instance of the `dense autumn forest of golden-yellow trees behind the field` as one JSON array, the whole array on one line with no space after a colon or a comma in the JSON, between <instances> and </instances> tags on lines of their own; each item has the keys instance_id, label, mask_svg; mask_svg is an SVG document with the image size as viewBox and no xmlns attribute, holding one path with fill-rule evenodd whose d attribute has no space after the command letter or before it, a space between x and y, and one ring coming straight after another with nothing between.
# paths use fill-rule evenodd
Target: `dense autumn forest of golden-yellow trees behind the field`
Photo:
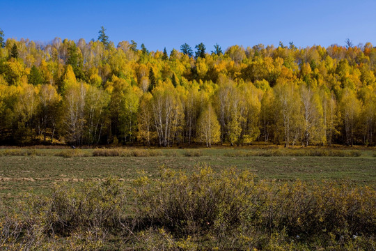
<instances>
[{"instance_id":1,"label":"dense autumn forest of golden-yellow trees behind the field","mask_svg":"<svg viewBox=\"0 0 376 251\"><path fill-rule=\"evenodd\" d=\"M0 30L0 144L375 145L371 43L179 49Z\"/></svg>"}]
</instances>

